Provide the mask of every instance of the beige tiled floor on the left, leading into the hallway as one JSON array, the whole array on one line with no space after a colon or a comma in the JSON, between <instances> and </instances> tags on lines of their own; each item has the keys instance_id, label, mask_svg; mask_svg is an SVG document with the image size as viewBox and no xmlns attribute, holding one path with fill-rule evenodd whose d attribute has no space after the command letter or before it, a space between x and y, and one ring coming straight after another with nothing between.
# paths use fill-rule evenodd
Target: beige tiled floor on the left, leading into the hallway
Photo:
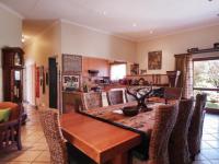
<instances>
[{"instance_id":1,"label":"beige tiled floor on the left, leading into the hallway","mask_svg":"<svg viewBox=\"0 0 219 164\"><path fill-rule=\"evenodd\" d=\"M0 154L0 164L46 164L50 163L49 151L42 131L37 110L26 107L28 121L22 126L23 150L16 149Z\"/></svg>"}]
</instances>

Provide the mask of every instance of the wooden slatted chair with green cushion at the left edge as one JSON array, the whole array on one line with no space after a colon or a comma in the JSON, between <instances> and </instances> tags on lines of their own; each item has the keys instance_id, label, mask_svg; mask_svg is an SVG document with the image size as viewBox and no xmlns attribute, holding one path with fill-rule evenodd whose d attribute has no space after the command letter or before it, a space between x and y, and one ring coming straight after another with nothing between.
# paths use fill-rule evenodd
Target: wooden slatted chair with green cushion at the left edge
<instances>
[{"instance_id":1,"label":"wooden slatted chair with green cushion at the left edge","mask_svg":"<svg viewBox=\"0 0 219 164\"><path fill-rule=\"evenodd\" d=\"M0 103L0 150L21 143L21 107L11 102Z\"/></svg>"}]
</instances>

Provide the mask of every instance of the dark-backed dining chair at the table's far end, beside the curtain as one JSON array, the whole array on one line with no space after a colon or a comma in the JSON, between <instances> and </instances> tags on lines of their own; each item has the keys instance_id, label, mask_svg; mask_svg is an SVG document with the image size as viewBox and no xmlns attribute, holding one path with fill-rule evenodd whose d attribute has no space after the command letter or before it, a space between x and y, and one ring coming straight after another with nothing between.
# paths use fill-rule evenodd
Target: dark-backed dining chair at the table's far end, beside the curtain
<instances>
[{"instance_id":1,"label":"dark-backed dining chair at the table's far end, beside the curtain","mask_svg":"<svg viewBox=\"0 0 219 164\"><path fill-rule=\"evenodd\" d=\"M170 99L181 99L182 97L182 87L164 87L163 95L165 103Z\"/></svg>"}]
</instances>

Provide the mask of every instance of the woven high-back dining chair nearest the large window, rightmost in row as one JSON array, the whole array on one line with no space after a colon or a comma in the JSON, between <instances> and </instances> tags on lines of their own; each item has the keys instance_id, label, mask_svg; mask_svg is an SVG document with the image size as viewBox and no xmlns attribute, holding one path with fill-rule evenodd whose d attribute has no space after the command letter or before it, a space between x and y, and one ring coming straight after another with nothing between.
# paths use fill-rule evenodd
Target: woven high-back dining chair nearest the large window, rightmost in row
<instances>
[{"instance_id":1,"label":"woven high-back dining chair nearest the large window, rightmost in row","mask_svg":"<svg viewBox=\"0 0 219 164\"><path fill-rule=\"evenodd\" d=\"M203 125L205 119L205 106L207 94L197 94L194 113L188 129L188 149L191 159L194 161L195 155L200 152L200 141L203 137Z\"/></svg>"}]
</instances>

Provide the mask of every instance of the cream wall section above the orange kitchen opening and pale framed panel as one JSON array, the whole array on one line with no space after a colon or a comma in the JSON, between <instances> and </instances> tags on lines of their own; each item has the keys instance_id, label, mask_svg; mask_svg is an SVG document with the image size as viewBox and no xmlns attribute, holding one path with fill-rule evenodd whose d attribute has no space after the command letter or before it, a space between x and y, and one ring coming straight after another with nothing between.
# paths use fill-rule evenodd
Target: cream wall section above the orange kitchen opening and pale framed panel
<instances>
[{"instance_id":1,"label":"cream wall section above the orange kitchen opening and pale framed panel","mask_svg":"<svg viewBox=\"0 0 219 164\"><path fill-rule=\"evenodd\" d=\"M72 23L61 22L61 52L113 60L136 60L137 44Z\"/></svg>"}]
</instances>

